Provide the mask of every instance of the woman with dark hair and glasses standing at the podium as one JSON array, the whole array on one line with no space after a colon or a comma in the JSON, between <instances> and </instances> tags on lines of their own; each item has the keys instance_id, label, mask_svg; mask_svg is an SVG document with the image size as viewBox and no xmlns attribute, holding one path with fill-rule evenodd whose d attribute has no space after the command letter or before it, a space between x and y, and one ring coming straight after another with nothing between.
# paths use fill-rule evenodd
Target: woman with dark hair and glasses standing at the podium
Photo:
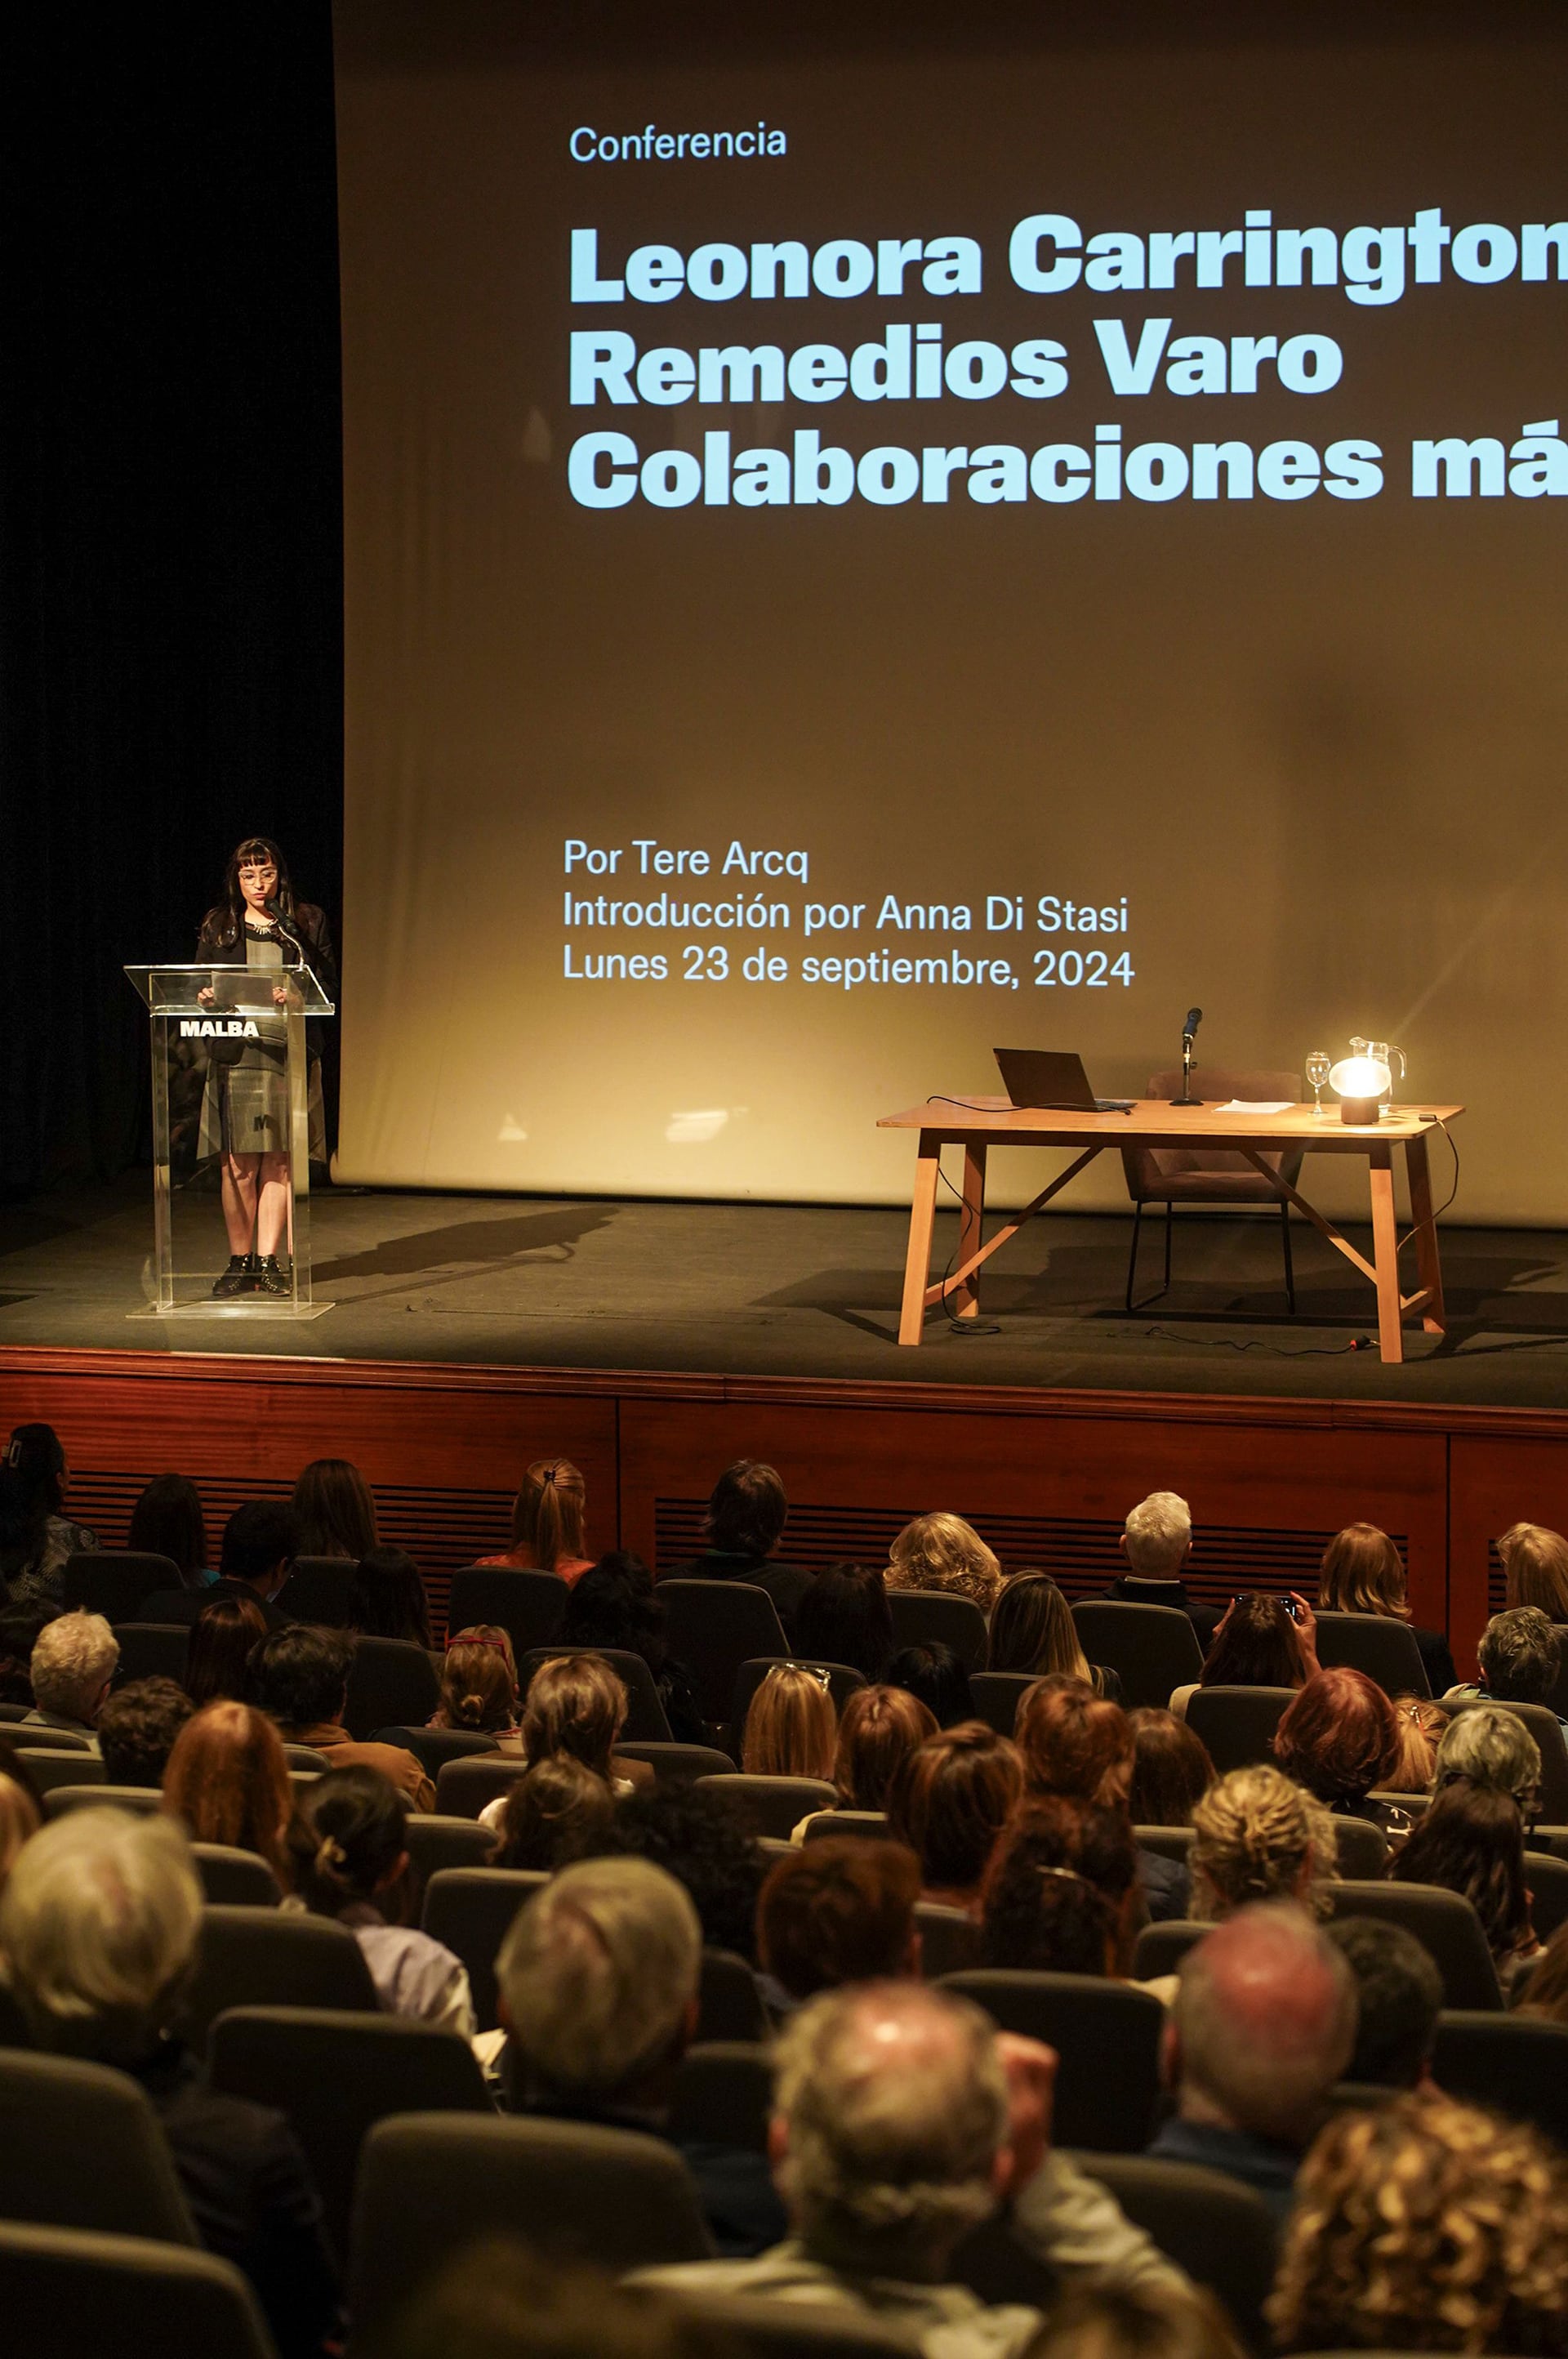
<instances>
[{"instance_id":1,"label":"woman with dark hair and glasses standing at the podium","mask_svg":"<svg viewBox=\"0 0 1568 2359\"><path fill-rule=\"evenodd\" d=\"M229 859L224 896L207 911L196 962L212 967L297 967L304 960L328 993L337 960L325 913L295 901L288 863L266 835L248 835ZM217 998L200 993L203 1003ZM274 998L283 1000L283 984ZM311 1158L325 1163L321 1059L309 1064ZM215 1295L285 1295L278 1248L288 1236L288 1045L283 1017L262 1019L231 1062L212 1059L200 1106L200 1154L222 1158L229 1267Z\"/></svg>"}]
</instances>

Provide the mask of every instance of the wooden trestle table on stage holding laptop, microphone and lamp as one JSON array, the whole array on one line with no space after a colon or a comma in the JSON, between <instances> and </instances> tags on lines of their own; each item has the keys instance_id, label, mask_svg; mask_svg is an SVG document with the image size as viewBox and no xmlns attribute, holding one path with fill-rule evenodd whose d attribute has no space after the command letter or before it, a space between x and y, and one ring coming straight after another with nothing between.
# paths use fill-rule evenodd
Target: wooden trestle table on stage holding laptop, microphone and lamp
<instances>
[{"instance_id":1,"label":"wooden trestle table on stage holding laptop, microphone and lamp","mask_svg":"<svg viewBox=\"0 0 1568 2359\"><path fill-rule=\"evenodd\" d=\"M1004 1097L929 1097L905 1113L884 1113L877 1130L917 1130L915 1203L910 1210L910 1250L903 1264L903 1314L898 1342L920 1342L920 1328L931 1305L953 1302L960 1319L979 1316L979 1272L990 1255L1019 1234L1026 1220L1045 1210L1052 1196L1078 1177L1096 1156L1118 1146L1233 1146L1252 1163L1271 1191L1311 1220L1337 1253L1377 1288L1377 1345L1384 1359L1405 1356L1403 1319L1419 1312L1429 1335L1445 1328L1443 1269L1438 1231L1431 1217L1431 1177L1427 1139L1438 1123L1452 1123L1464 1106L1394 1106L1379 1123L1344 1123L1339 1111L1313 1113L1311 1106L1285 1106L1283 1113L1221 1113L1219 1106L1172 1106L1165 1099L1139 1099L1132 1113L1073 1113L1014 1106ZM936 1180L943 1146L964 1149L964 1201L960 1215L957 1269L929 1286L931 1222L936 1217ZM1068 1146L1078 1149L1063 1172L1023 1205L997 1234L981 1243L986 1213L986 1154L990 1146ZM1264 1156L1304 1146L1313 1156L1365 1156L1372 1198L1372 1260L1356 1253ZM1417 1290L1398 1290L1398 1224L1394 1217L1394 1151L1405 1154L1410 1217L1417 1260Z\"/></svg>"}]
</instances>

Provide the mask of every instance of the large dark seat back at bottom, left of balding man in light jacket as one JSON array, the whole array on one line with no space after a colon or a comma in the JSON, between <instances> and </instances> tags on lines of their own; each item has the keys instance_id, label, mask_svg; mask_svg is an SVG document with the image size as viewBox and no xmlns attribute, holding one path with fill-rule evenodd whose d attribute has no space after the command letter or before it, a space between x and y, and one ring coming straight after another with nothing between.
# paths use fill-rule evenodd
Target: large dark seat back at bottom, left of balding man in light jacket
<instances>
[{"instance_id":1,"label":"large dark seat back at bottom, left of balding man in light jacket","mask_svg":"<svg viewBox=\"0 0 1568 2359\"><path fill-rule=\"evenodd\" d=\"M547 2258L622 2274L707 2260L696 2182L674 2147L580 2121L417 2114L363 2142L349 2309L375 2347L410 2293L469 2239L516 2232Z\"/></svg>"}]
</instances>

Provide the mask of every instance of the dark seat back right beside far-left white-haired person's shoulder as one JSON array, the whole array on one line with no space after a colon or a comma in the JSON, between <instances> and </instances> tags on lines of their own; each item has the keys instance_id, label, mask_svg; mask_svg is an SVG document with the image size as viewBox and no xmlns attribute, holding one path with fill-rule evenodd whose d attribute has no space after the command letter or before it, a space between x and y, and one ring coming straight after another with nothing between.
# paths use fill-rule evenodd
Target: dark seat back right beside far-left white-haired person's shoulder
<instances>
[{"instance_id":1,"label":"dark seat back right beside far-left white-haired person's shoulder","mask_svg":"<svg viewBox=\"0 0 1568 2359\"><path fill-rule=\"evenodd\" d=\"M349 2253L358 2154L377 2121L495 2111L469 2043L403 2015L231 2008L212 2024L207 2078L288 2114L340 2258Z\"/></svg>"}]
</instances>

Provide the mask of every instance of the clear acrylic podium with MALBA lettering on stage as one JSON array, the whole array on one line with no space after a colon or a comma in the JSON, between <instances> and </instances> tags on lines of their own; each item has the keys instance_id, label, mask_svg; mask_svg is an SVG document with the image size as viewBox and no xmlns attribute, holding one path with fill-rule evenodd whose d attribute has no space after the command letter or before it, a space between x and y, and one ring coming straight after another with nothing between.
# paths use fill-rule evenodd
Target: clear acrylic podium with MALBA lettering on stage
<instances>
[{"instance_id":1,"label":"clear acrylic podium with MALBA lettering on stage","mask_svg":"<svg viewBox=\"0 0 1568 2359\"><path fill-rule=\"evenodd\" d=\"M330 1017L332 1000L304 965L127 967L153 1036L153 1279L156 1295L132 1319L318 1319L311 1300L311 1123L307 1017ZM229 1267L217 1191L174 1184L174 1132L198 1095L222 1087L219 1071L248 1040L283 1047L288 1085L288 1295L212 1295ZM184 1102L184 1104L182 1104Z\"/></svg>"}]
</instances>

